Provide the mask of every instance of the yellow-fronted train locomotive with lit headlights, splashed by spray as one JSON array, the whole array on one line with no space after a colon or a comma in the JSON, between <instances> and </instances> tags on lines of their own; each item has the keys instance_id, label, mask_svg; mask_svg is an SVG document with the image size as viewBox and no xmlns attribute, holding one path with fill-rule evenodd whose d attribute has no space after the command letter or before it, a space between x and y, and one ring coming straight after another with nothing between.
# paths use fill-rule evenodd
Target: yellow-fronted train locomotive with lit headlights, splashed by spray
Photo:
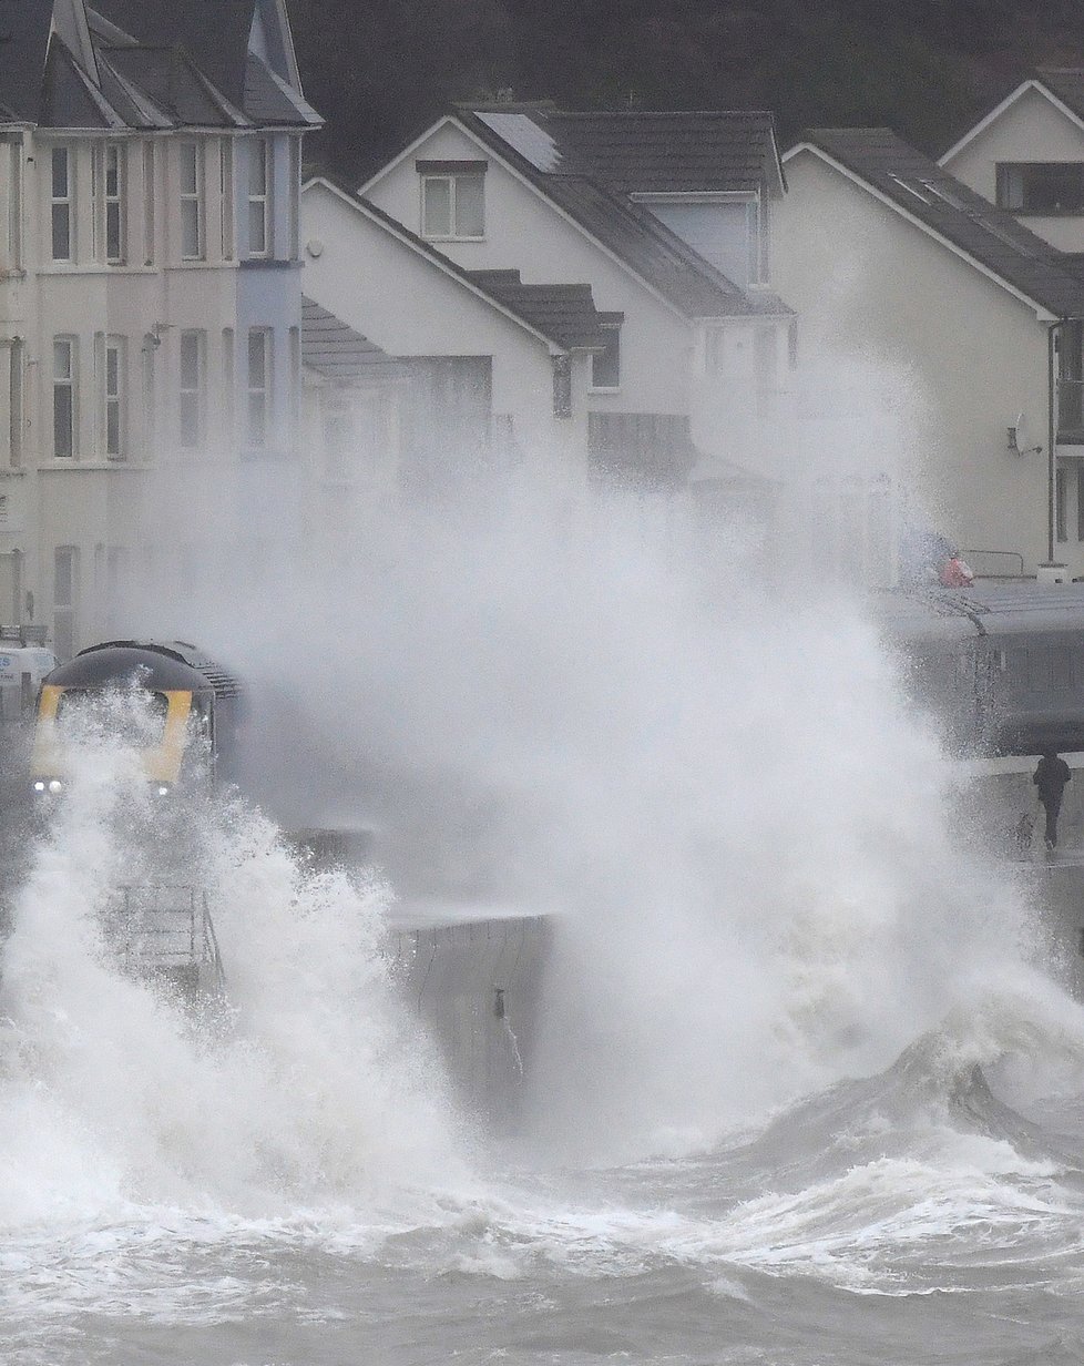
<instances>
[{"instance_id":1,"label":"yellow-fronted train locomotive with lit headlights, splashed by spray","mask_svg":"<svg viewBox=\"0 0 1084 1366\"><path fill-rule=\"evenodd\" d=\"M41 682L30 753L37 796L60 796L71 781L79 716L130 688L143 694L143 712L127 738L158 795L232 776L243 716L238 678L187 641L105 641Z\"/></svg>"}]
</instances>

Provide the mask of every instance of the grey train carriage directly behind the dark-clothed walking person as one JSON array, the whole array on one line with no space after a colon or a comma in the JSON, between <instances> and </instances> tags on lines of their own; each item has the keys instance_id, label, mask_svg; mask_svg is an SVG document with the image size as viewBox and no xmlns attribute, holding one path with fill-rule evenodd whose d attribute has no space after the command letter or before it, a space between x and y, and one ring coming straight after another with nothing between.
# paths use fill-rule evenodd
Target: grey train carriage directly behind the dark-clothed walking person
<instances>
[{"instance_id":1,"label":"grey train carriage directly behind the dark-clothed walking person","mask_svg":"<svg viewBox=\"0 0 1084 1366\"><path fill-rule=\"evenodd\" d=\"M885 594L908 694L968 755L1084 750L1084 583L979 582Z\"/></svg>"}]
</instances>

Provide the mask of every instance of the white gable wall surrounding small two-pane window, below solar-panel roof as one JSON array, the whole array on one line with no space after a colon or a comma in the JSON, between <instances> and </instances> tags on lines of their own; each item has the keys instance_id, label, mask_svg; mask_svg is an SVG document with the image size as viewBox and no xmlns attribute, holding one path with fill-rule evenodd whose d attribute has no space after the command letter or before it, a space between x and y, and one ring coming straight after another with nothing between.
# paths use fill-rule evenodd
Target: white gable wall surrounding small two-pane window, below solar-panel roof
<instances>
[{"instance_id":1,"label":"white gable wall surrounding small two-pane window, below solar-panel roof","mask_svg":"<svg viewBox=\"0 0 1084 1366\"><path fill-rule=\"evenodd\" d=\"M621 389L593 393L595 411L688 413L694 344L688 320L653 294L554 205L452 124L393 164L366 195L412 232L420 231L420 180L415 160L489 161L486 236L436 243L470 270L519 270L530 284L590 283L599 311L621 311Z\"/></svg>"}]
</instances>

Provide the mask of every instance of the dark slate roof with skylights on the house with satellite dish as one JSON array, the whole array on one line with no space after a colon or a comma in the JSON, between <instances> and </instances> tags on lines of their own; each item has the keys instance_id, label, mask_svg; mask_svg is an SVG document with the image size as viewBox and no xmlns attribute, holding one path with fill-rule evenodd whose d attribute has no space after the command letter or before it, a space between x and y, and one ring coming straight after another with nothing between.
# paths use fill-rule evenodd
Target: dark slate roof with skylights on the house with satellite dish
<instances>
[{"instance_id":1,"label":"dark slate roof with skylights on the house with satellite dish","mask_svg":"<svg viewBox=\"0 0 1084 1366\"><path fill-rule=\"evenodd\" d=\"M1084 317L1084 281L1055 247L890 128L814 128L801 143L827 153L1042 309Z\"/></svg>"}]
</instances>

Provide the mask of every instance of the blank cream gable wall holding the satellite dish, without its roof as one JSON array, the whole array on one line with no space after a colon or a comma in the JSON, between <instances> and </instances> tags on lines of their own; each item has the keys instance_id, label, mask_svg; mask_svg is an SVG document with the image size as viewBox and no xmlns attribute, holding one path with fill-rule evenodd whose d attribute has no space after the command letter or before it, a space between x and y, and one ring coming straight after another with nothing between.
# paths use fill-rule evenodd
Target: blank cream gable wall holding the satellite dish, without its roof
<instances>
[{"instance_id":1,"label":"blank cream gable wall holding the satellite dish, without its roof","mask_svg":"<svg viewBox=\"0 0 1084 1366\"><path fill-rule=\"evenodd\" d=\"M1047 553L1047 459L1006 451L1024 411L1046 447L1047 333L1009 295L922 228L810 152L786 160L775 275L803 320L804 355L882 366L920 398L909 449L939 529L965 549ZM1084 572L1077 542L1058 546Z\"/></svg>"}]
</instances>

